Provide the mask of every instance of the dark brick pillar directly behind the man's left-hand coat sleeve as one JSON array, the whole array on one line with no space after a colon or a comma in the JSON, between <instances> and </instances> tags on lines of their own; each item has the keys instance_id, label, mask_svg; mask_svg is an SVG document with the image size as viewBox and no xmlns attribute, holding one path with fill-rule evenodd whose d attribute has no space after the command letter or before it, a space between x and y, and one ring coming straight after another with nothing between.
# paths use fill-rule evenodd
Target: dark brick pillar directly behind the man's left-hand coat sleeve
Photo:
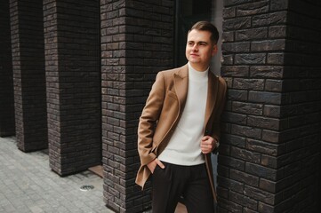
<instances>
[{"instance_id":1,"label":"dark brick pillar directly behind the man's left-hand coat sleeve","mask_svg":"<svg viewBox=\"0 0 321 213\"><path fill-rule=\"evenodd\" d=\"M116 212L150 207L135 185L137 124L156 73L173 66L173 1L101 1L104 201Z\"/></svg>"}]
</instances>

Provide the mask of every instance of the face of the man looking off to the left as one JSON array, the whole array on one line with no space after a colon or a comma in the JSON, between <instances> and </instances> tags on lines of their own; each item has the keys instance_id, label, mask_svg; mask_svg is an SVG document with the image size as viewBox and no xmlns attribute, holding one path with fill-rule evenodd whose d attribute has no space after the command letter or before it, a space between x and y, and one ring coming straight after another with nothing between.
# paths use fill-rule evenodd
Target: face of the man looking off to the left
<instances>
[{"instance_id":1,"label":"face of the man looking off to the left","mask_svg":"<svg viewBox=\"0 0 321 213\"><path fill-rule=\"evenodd\" d=\"M193 29L189 32L186 43L186 58L197 71L209 67L212 57L217 53L217 45L210 39L211 33Z\"/></svg>"}]
</instances>

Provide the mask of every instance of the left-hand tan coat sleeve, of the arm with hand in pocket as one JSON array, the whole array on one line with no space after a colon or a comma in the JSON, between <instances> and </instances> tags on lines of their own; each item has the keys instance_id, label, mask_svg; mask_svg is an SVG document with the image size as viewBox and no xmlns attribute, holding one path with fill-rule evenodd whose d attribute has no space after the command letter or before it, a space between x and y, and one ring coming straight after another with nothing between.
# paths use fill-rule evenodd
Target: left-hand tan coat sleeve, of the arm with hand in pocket
<instances>
[{"instance_id":1,"label":"left-hand tan coat sleeve, of the arm with hand in pocket","mask_svg":"<svg viewBox=\"0 0 321 213\"><path fill-rule=\"evenodd\" d=\"M153 136L156 122L162 111L164 99L165 79L162 72L159 72L156 75L156 81L149 92L138 125L138 152L141 166L146 166L156 158L156 154L153 153Z\"/></svg>"}]
</instances>

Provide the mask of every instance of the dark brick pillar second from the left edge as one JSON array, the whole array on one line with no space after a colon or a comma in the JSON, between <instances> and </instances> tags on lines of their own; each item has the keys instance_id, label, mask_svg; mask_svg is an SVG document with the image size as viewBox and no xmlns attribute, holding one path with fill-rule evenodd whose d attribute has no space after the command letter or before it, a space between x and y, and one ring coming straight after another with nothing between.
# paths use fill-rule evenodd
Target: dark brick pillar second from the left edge
<instances>
[{"instance_id":1,"label":"dark brick pillar second from the left edge","mask_svg":"<svg viewBox=\"0 0 321 213\"><path fill-rule=\"evenodd\" d=\"M42 2L10 0L16 139L20 150L47 147Z\"/></svg>"}]
</instances>

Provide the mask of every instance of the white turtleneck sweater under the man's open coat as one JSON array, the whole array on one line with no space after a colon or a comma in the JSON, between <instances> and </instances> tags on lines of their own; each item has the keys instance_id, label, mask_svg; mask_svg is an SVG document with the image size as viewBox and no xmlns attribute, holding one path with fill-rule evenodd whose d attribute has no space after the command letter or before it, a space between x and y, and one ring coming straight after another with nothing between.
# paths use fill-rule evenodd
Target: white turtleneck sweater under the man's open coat
<instances>
[{"instance_id":1,"label":"white turtleneck sweater under the man's open coat","mask_svg":"<svg viewBox=\"0 0 321 213\"><path fill-rule=\"evenodd\" d=\"M158 156L160 161L184 166L205 162L200 144L204 136L208 72L208 68L199 72L189 65L186 104L172 138Z\"/></svg>"}]
</instances>

